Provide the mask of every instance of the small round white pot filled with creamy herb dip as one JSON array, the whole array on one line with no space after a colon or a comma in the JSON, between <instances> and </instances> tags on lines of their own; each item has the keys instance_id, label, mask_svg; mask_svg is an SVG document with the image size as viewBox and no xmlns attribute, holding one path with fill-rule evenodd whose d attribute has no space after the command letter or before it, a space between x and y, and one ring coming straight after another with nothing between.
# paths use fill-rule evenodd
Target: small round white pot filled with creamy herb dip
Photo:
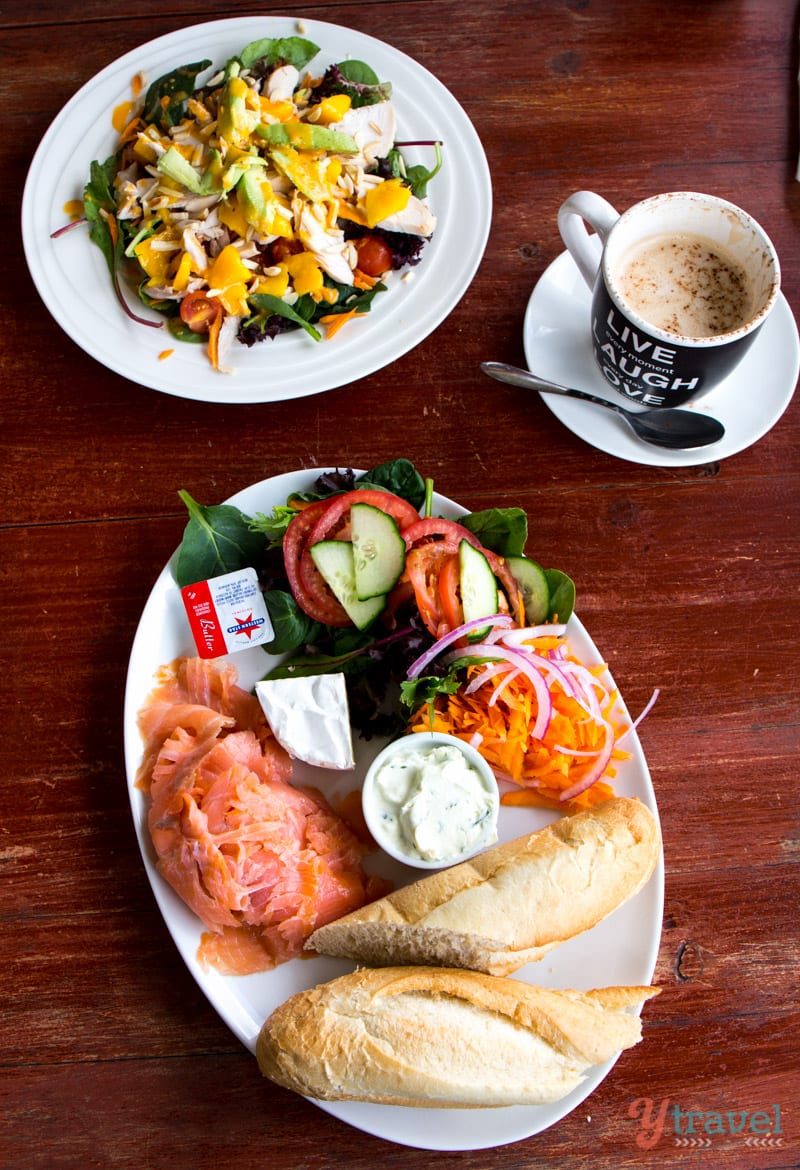
<instances>
[{"instance_id":1,"label":"small round white pot filled with creamy herb dip","mask_svg":"<svg viewBox=\"0 0 800 1170\"><path fill-rule=\"evenodd\" d=\"M395 742L365 783L367 824L387 852L444 865L497 840L497 784L468 745L447 736Z\"/></svg>"}]
</instances>

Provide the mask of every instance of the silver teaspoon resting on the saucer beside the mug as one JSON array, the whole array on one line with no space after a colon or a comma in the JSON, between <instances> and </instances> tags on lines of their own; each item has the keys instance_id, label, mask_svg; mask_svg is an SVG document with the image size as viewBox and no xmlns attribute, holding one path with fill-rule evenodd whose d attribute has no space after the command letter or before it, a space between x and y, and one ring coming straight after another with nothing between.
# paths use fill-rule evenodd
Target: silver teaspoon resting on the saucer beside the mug
<instances>
[{"instance_id":1,"label":"silver teaspoon resting on the saucer beside the mug","mask_svg":"<svg viewBox=\"0 0 800 1170\"><path fill-rule=\"evenodd\" d=\"M570 386L559 386L556 381L547 381L527 370L518 366L505 365L504 362L482 362L481 369L490 378L498 381L508 381L511 386L530 386L544 394L564 394L567 398L580 398L586 402L594 402L595 406L605 406L608 411L621 414L625 421L635 431L644 442L655 443L657 447L668 447L670 450L685 450L689 447L708 447L712 442L719 442L725 434L725 428L717 419L708 414L696 414L694 411L678 411L671 406L657 407L653 411L627 411L618 402L609 402L596 394L588 394L584 390L572 390Z\"/></svg>"}]
</instances>

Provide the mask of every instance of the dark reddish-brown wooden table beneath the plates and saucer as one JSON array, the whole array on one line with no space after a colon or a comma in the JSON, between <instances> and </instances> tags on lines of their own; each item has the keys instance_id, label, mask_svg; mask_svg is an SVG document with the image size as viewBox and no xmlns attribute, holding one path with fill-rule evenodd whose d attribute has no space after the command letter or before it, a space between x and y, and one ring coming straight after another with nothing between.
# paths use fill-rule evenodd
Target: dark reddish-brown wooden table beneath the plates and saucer
<instances>
[{"instance_id":1,"label":"dark reddish-brown wooden table beneath the plates and saucer","mask_svg":"<svg viewBox=\"0 0 800 1170\"><path fill-rule=\"evenodd\" d=\"M450 89L484 144L494 219L470 288L405 357L323 394L229 406L133 385L83 353L42 304L16 223L32 154L84 82L153 36L264 9L6 13L4 1170L798 1164L800 408L722 462L664 469L593 449L478 370L524 363L525 305L579 187L621 207L682 187L744 205L796 311L795 9L287 0L281 13L379 37ZM398 455L470 509L524 507L531 553L574 577L630 708L662 688L641 731L667 865L646 1042L557 1127L456 1155L367 1136L262 1080L161 922L122 755L129 651L182 530L178 488L213 502L281 472ZM644 1108L669 1109L661 1131Z\"/></svg>"}]
</instances>

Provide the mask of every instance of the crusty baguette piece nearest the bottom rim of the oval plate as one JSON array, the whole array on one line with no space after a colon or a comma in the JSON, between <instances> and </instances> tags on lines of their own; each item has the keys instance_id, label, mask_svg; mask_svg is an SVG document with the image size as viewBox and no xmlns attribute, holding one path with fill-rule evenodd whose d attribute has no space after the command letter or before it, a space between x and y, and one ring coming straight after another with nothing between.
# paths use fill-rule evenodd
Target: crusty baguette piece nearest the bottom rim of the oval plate
<instances>
[{"instance_id":1,"label":"crusty baguette piece nearest the bottom rim of the oval plate","mask_svg":"<svg viewBox=\"0 0 800 1170\"><path fill-rule=\"evenodd\" d=\"M550 991L448 968L361 968L282 1004L264 1076L323 1101L425 1108L547 1104L641 1039L657 987Z\"/></svg>"}]
</instances>

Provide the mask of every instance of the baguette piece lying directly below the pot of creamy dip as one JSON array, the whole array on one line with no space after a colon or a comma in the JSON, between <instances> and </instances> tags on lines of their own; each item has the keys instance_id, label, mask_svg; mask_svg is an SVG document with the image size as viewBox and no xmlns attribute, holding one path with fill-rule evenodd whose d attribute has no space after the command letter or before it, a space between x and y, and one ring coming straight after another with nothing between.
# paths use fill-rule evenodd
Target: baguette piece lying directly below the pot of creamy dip
<instances>
[{"instance_id":1,"label":"baguette piece lying directly below the pot of creamy dip","mask_svg":"<svg viewBox=\"0 0 800 1170\"><path fill-rule=\"evenodd\" d=\"M306 949L367 966L510 975L637 893L660 853L649 808L616 797L320 927Z\"/></svg>"}]
</instances>

